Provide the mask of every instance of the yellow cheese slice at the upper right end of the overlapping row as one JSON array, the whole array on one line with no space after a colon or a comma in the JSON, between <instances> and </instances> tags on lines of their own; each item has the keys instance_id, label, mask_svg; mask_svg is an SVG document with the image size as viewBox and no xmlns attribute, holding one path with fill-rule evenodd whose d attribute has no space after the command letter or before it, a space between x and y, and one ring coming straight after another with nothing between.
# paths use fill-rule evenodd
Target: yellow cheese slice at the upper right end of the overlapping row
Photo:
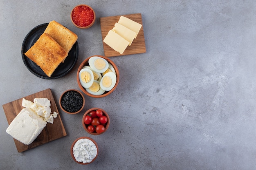
<instances>
[{"instance_id":1,"label":"yellow cheese slice at the upper right end of the overlapping row","mask_svg":"<svg viewBox=\"0 0 256 170\"><path fill-rule=\"evenodd\" d=\"M118 21L119 24L125 26L126 28L134 31L136 33L135 38L137 37L139 30L141 29L141 24L138 22L135 22L129 18L126 18L124 16L121 16Z\"/></svg>"}]
</instances>

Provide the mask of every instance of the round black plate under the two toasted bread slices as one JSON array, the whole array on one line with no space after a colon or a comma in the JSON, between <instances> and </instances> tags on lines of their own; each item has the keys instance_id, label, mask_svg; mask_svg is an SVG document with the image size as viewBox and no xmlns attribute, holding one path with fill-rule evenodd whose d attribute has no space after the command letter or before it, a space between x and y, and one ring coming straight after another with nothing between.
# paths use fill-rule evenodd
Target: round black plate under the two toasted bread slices
<instances>
[{"instance_id":1,"label":"round black plate under the two toasted bread slices","mask_svg":"<svg viewBox=\"0 0 256 170\"><path fill-rule=\"evenodd\" d=\"M35 42L38 40L40 35L43 34L46 27L49 23L41 24L36 26L34 29L29 31L29 33L26 35L21 48L21 55L22 60L25 64L25 66L29 69L31 73L36 75L37 77L43 78L43 79L56 79L63 77L67 73L69 73L72 68L75 66L77 58L78 58L78 42L73 45L72 49L69 51L67 58L63 63L61 63L56 70L52 73L52 77L48 77L43 70L36 65L32 60L30 60L24 53L26 53L31 46L35 44Z\"/></svg>"}]
</instances>

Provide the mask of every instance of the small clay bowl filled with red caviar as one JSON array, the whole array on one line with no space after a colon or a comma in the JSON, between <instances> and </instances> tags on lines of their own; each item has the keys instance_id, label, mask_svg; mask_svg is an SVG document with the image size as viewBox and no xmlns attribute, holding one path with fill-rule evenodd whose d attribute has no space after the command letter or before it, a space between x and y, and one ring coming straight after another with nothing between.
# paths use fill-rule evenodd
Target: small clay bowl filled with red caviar
<instances>
[{"instance_id":1,"label":"small clay bowl filled with red caviar","mask_svg":"<svg viewBox=\"0 0 256 170\"><path fill-rule=\"evenodd\" d=\"M88 15L90 16L89 18ZM77 28L88 29L94 24L96 15L92 7L86 4L80 4L72 9L70 18Z\"/></svg>"}]
</instances>

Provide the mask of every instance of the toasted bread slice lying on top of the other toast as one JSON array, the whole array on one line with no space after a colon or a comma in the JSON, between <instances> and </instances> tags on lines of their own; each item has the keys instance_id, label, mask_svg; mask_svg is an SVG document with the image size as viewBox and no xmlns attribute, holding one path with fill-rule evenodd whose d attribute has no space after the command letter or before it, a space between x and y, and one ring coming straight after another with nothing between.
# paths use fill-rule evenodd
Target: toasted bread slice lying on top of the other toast
<instances>
[{"instance_id":1,"label":"toasted bread slice lying on top of the other toast","mask_svg":"<svg viewBox=\"0 0 256 170\"><path fill-rule=\"evenodd\" d=\"M51 77L68 53L49 34L43 33L25 55Z\"/></svg>"}]
</instances>

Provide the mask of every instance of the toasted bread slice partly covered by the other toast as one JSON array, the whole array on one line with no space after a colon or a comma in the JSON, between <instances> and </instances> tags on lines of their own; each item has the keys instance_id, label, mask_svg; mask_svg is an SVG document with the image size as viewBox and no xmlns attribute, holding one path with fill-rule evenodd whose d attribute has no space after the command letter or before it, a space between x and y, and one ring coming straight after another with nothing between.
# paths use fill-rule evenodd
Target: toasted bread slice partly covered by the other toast
<instances>
[{"instance_id":1,"label":"toasted bread slice partly covered by the other toast","mask_svg":"<svg viewBox=\"0 0 256 170\"><path fill-rule=\"evenodd\" d=\"M77 40L77 35L56 21L49 22L45 32L49 34L63 49L69 52Z\"/></svg>"}]
</instances>

